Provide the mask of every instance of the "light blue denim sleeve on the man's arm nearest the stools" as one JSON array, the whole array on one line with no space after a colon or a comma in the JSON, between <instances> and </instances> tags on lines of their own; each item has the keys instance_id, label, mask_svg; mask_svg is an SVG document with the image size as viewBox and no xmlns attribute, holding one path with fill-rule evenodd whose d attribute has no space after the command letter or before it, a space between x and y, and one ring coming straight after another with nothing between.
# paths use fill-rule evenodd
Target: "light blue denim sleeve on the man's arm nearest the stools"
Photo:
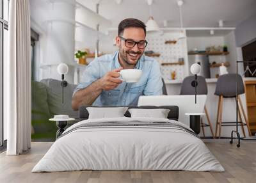
<instances>
[{"instance_id":1,"label":"light blue denim sleeve on the man's arm nearest the stools","mask_svg":"<svg viewBox=\"0 0 256 183\"><path fill-rule=\"evenodd\" d=\"M153 61L143 95L163 95L163 82L159 63Z\"/></svg>"}]
</instances>

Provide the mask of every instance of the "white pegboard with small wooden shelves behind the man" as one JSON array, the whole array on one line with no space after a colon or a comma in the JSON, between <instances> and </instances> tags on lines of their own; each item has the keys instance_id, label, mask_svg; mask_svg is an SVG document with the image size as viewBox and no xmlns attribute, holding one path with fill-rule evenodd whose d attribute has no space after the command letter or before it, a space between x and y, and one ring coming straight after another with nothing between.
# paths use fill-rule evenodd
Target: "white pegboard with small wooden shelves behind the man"
<instances>
[{"instance_id":1,"label":"white pegboard with small wooden shelves behind the man","mask_svg":"<svg viewBox=\"0 0 256 183\"><path fill-rule=\"evenodd\" d=\"M176 40L176 44L165 44L168 40ZM173 63L184 58L186 61L186 38L180 38L180 33L163 33L163 35L147 35L148 45L146 51L159 53L159 57L154 57L160 64ZM164 79L171 79L171 72L176 72L175 79L183 79L185 65L161 65L161 74Z\"/></svg>"}]
</instances>

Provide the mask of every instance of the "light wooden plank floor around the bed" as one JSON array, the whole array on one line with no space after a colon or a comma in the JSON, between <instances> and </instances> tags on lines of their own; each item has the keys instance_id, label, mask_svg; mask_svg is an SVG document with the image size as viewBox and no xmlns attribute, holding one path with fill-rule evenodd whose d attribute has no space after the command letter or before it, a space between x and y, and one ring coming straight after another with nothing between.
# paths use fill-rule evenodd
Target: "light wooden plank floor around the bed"
<instances>
[{"instance_id":1,"label":"light wooden plank floor around the bed","mask_svg":"<svg viewBox=\"0 0 256 183\"><path fill-rule=\"evenodd\" d=\"M227 140L207 140L205 144L225 168L225 172L195 171L65 171L31 173L52 143L32 143L31 150L17 156L0 154L0 182L256 182L256 142L242 141L241 147Z\"/></svg>"}]
</instances>

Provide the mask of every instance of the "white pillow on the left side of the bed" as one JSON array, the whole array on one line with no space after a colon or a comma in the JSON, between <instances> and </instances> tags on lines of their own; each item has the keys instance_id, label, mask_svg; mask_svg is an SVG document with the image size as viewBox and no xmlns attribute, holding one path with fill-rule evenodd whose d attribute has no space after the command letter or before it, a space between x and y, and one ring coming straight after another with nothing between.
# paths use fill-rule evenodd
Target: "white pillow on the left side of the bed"
<instances>
[{"instance_id":1,"label":"white pillow on the left side of the bed","mask_svg":"<svg viewBox=\"0 0 256 183\"><path fill-rule=\"evenodd\" d=\"M95 118L120 118L125 117L124 114L128 107L86 107L89 113L89 119Z\"/></svg>"}]
</instances>

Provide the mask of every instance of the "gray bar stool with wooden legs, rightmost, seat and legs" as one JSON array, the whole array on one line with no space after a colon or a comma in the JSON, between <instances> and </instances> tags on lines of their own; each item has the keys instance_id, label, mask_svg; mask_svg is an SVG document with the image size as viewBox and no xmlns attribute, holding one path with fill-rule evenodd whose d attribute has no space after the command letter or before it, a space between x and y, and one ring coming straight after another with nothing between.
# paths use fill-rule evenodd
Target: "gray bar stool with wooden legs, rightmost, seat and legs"
<instances>
[{"instance_id":1,"label":"gray bar stool with wooden legs, rightmost, seat and legs","mask_svg":"<svg viewBox=\"0 0 256 183\"><path fill-rule=\"evenodd\" d=\"M236 88L236 86L237 86L237 88ZM247 126L249 135L252 136L252 133L250 131L250 126L249 126L248 120L246 118L246 115L244 113L241 99L239 97L239 95L244 93L243 79L239 74L224 74L218 78L218 81L216 83L216 90L214 93L214 95L219 96L216 129L215 129L215 137L216 138L217 138L218 130L219 130L218 138L220 138L220 136L221 136L221 126L236 126L236 122L222 122L223 98L236 99L236 92L237 92L238 116L239 116L239 122L238 122L239 124L238 125L242 127L244 137L245 137L244 125ZM243 123L243 121L242 121L240 110L242 110L245 123Z\"/></svg>"}]
</instances>

